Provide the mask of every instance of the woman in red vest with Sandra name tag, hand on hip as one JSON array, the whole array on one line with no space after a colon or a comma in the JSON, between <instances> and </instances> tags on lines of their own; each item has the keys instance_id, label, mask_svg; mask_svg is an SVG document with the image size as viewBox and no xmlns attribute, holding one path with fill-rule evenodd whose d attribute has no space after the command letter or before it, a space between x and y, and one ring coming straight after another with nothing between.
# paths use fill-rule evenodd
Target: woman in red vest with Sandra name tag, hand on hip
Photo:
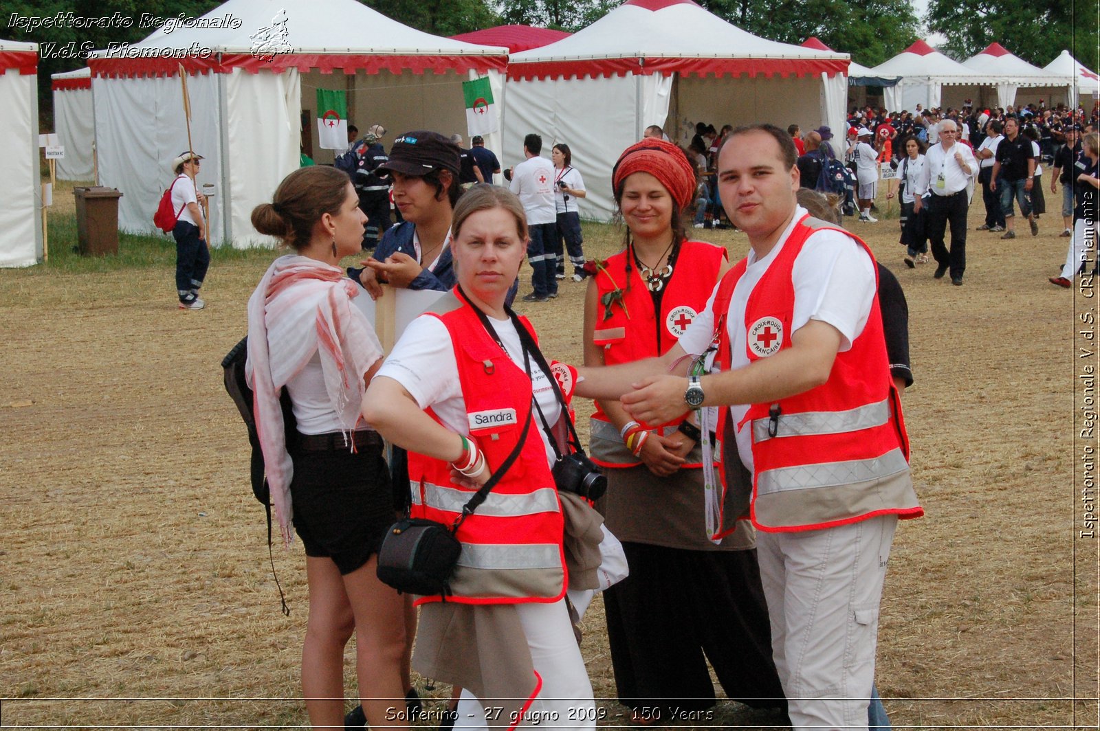
<instances>
[{"instance_id":1,"label":"woman in red vest with Sandra name tag, hand on hip","mask_svg":"<svg viewBox=\"0 0 1100 731\"><path fill-rule=\"evenodd\" d=\"M463 688L457 726L594 728L550 469L553 427L569 414L537 363L534 329L505 304L526 255L522 206L504 188L474 186L452 233L458 286L405 330L363 413L408 450L414 518L453 524L518 456L458 529L452 594L418 598L413 666Z\"/></svg>"}]
</instances>

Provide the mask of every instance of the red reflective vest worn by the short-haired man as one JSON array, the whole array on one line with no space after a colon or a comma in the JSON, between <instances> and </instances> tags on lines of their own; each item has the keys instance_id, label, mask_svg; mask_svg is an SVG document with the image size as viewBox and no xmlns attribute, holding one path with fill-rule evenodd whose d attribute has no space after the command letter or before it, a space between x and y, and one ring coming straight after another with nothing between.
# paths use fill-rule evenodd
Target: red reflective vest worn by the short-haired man
<instances>
[{"instance_id":1,"label":"red reflective vest worn by the short-haired man","mask_svg":"<svg viewBox=\"0 0 1100 731\"><path fill-rule=\"evenodd\" d=\"M803 217L746 303L741 326L750 362L791 346L794 261L811 234L823 229L851 236L873 263L858 236ZM716 364L723 369L732 362L726 315L746 266L747 259L730 269L715 296ZM726 422L723 414L718 430L724 445ZM774 403L754 403L745 422L752 430L749 516L760 530L815 530L886 513L924 514L909 475L909 438L890 378L877 293L864 331L849 350L837 353L825 384ZM728 439L736 443L733 434Z\"/></svg>"}]
</instances>

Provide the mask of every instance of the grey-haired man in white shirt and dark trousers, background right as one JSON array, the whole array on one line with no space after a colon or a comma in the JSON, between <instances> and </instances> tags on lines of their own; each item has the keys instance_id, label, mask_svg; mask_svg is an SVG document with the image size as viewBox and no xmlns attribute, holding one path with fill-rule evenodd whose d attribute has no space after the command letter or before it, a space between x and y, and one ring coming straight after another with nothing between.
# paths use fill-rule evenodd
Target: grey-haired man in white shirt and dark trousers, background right
<instances>
[{"instance_id":1,"label":"grey-haired man in white shirt and dark trousers, background right","mask_svg":"<svg viewBox=\"0 0 1100 731\"><path fill-rule=\"evenodd\" d=\"M939 144L928 147L924 159L924 169L916 181L913 200L913 211L920 212L923 206L921 196L932 192L928 201L928 240L932 242L932 255L936 259L936 279L942 279L952 272L952 284L963 286L963 273L966 272L966 214L967 184L978 171L978 162L966 145L958 144L958 126L950 120L939 124ZM944 246L944 232L947 224L952 226L952 250L948 254Z\"/></svg>"}]
</instances>

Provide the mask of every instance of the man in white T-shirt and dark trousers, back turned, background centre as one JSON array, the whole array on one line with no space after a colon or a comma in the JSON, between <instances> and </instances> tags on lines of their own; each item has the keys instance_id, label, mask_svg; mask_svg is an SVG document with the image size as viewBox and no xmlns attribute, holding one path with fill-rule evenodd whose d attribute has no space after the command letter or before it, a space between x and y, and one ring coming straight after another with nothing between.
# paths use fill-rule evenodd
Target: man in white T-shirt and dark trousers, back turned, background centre
<instances>
[{"instance_id":1,"label":"man in white T-shirt and dark trousers, back turned, background centre","mask_svg":"<svg viewBox=\"0 0 1100 731\"><path fill-rule=\"evenodd\" d=\"M519 196L527 213L530 241L527 244L527 262L531 265L534 291L524 295L525 302L544 302L558 296L558 279L554 276L558 258L550 251L550 243L558 231L558 213L553 203L553 163L542 157L542 137L529 134L524 137L524 157L512 168L508 189Z\"/></svg>"}]
</instances>

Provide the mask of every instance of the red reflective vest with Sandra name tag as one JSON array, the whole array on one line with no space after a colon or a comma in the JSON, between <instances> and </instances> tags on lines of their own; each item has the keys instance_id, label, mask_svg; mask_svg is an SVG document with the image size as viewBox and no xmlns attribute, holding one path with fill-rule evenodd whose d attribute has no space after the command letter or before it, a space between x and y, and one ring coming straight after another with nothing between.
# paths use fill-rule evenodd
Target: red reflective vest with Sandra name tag
<instances>
[{"instance_id":1,"label":"red reflective vest with Sandra name tag","mask_svg":"<svg viewBox=\"0 0 1100 731\"><path fill-rule=\"evenodd\" d=\"M468 433L490 468L512 453L531 409L531 380L494 341L470 304L431 313L447 326L459 366L459 381L469 419ZM534 335L526 318L524 326ZM439 418L427 410L436 421ZM485 502L458 531L462 554L451 580L461 603L553 602L565 594L564 529L538 416L512 468ZM416 452L408 453L411 516L448 525L461 514L474 490L451 481L451 466ZM421 601L439 601L427 597Z\"/></svg>"}]
</instances>

